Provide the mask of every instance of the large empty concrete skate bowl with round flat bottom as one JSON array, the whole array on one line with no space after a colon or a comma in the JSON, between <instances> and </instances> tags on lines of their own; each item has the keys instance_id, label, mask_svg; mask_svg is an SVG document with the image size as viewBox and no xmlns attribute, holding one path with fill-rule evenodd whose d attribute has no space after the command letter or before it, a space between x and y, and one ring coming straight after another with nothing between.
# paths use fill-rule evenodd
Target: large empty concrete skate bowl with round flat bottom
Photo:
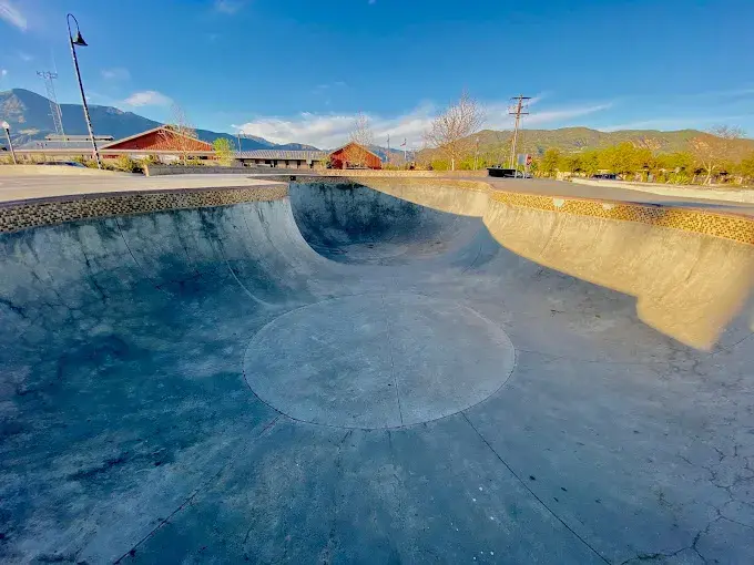
<instances>
[{"instance_id":1,"label":"large empty concrete skate bowl with round flat bottom","mask_svg":"<svg viewBox=\"0 0 754 565\"><path fill-rule=\"evenodd\" d=\"M0 236L0 561L752 561L746 244L369 184Z\"/></svg>"}]
</instances>

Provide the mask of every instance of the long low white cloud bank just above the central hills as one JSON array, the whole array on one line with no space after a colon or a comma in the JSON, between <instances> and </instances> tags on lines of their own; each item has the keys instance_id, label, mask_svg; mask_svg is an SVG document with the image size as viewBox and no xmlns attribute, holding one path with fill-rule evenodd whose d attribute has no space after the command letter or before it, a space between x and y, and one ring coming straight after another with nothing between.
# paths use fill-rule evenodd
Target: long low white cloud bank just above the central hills
<instances>
[{"instance_id":1,"label":"long low white cloud bank just above the central hills","mask_svg":"<svg viewBox=\"0 0 754 565\"><path fill-rule=\"evenodd\" d=\"M508 114L509 105L508 101L485 104L486 121L483 127L489 130L511 129L513 122L512 116ZM522 123L524 127L547 123L562 124L572 119L609 107L611 107L610 103L603 103L544 110L532 112L526 116ZM438 110L434 104L426 103L411 112L394 117L367 114L375 134L375 143L386 145L389 134L393 146L397 147L406 138L410 148L421 147L424 133L429 129ZM354 127L356 115L355 113L314 114L305 112L289 117L262 116L245 124L233 125L233 127L241 129L245 134L258 135L274 143L296 142L322 148L333 148L348 141L348 134Z\"/></svg>"}]
</instances>

